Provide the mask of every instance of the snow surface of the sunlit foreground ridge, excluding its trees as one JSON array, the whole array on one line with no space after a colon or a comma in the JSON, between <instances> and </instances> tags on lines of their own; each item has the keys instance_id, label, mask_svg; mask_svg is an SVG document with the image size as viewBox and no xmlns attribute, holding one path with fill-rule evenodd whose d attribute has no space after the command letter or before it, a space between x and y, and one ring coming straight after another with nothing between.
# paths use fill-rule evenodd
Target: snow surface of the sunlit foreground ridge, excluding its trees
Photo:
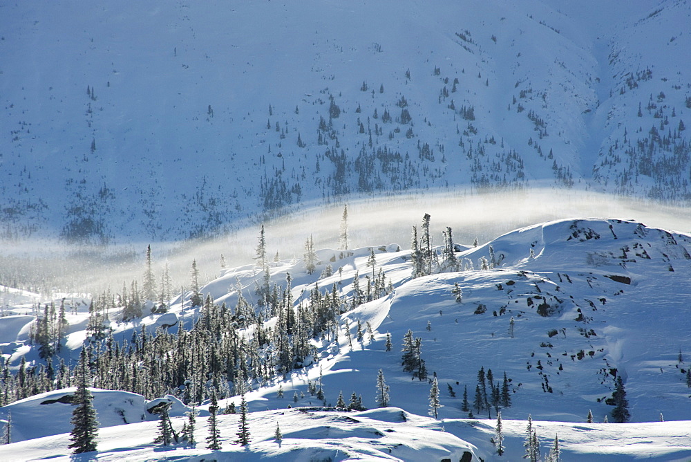
<instances>
[{"instance_id":1,"label":"snow surface of the sunlit foreground ridge, excluding its trees","mask_svg":"<svg viewBox=\"0 0 691 462\"><path fill-rule=\"evenodd\" d=\"M411 437L404 433L404 436L392 435L391 439L384 432L388 424L382 423L399 415L400 411L392 408L373 410L370 414L342 414L319 410L324 403L334 405L339 392L346 398L351 392L360 394L365 407L376 408L375 378L381 369L390 386L390 405L405 409L406 425L412 425L406 432L417 433L422 428L432 431L415 440L419 441L420 451L433 458L444 459L444 454L455 454L453 456L460 459L469 448L475 456L493 460L489 443L493 421L486 420L486 412L475 415L479 422L468 420L467 412L461 409L464 387L468 387L472 403L477 371L482 367L485 371L493 371L495 381L502 378L503 373L509 378L511 406L502 409L509 454L522 454L520 441L524 421L518 419L531 414L536 419L543 447L549 445L555 434L559 435L565 451L563 460L578 460L585 454L597 454L602 460L610 460L607 457L626 460L632 456L682 460L688 457L691 447L688 422L683 421L688 417L685 409L688 409L689 399L684 372L688 369L685 345L690 340L691 325L689 317L683 314L688 311L685 287L691 275L689 249L691 237L687 234L649 228L635 221L569 219L515 230L483 246L458 252L456 257L461 267L466 268L461 272L441 272L416 279L411 277L410 250L400 250L395 244L375 246L371 250L319 250L319 262L312 275L305 272L303 261L276 262L269 268L269 279L272 283L285 284L286 274L290 272L294 306L309 306L310 291L317 285L321 290L332 290L335 284L341 297L351 299L355 275L359 275L360 284L368 275L372 276L373 269L368 266L372 251L374 271L384 272L392 291L341 315L337 340L328 335L312 340L316 355L306 358L304 367L297 367L264 384L248 382L252 386L252 391L246 395L252 411L250 427L256 435L250 446L252 454L288 457L285 447L301 447L306 451L304 454L336 454L323 451L325 447L333 451L333 445L337 445L349 454L410 460L410 454L400 452L402 449L396 452L396 438L407 439L410 445ZM437 250L439 258L441 251L441 248ZM495 259L494 268L478 269L482 259L491 264L491 255ZM327 265L332 266L332 275L319 276ZM245 299L252 299L257 281L262 279L263 271L254 266L229 268L201 291L211 295L216 303L233 307L238 304L238 288ZM456 284L462 290L460 302L453 293ZM360 287L362 290L363 286ZM113 308L109 317L115 340L131 338L133 329L139 331L142 326L151 333L161 326L169 326L167 329L174 333L179 329L178 323L189 329L202 315L200 308L189 307L190 296L189 293L185 296L184 305L179 297L173 299L169 313L148 315L141 321L119 322L121 308ZM80 302L79 306L82 308L76 308L76 313L70 317L70 323L74 324L70 327L68 347L72 349L78 349L86 339L84 329L88 313L84 312L86 304ZM16 367L22 355L26 360L37 361L36 346L31 347L18 335L18 331L26 330L23 323L30 318L21 317L22 322L10 322L19 319L18 316L1 319L8 320L0 341L4 342L3 355L10 365ZM275 322L269 319L264 326L274 326ZM371 326L372 338L365 334L362 340L357 340L358 322L363 331L366 324ZM350 327L350 341L346 326ZM422 340L422 358L426 361L428 376L435 374L439 380L444 405L439 409L439 421L419 417L428 411L428 381L417 380L401 368L399 350L408 329ZM252 329L243 331L251 338ZM392 339L392 351L385 348L387 333ZM68 354L67 351L63 353ZM321 380L320 375L323 376ZM623 378L626 385L631 420L636 423L600 424L598 422L612 411L605 400L612 396L618 377ZM323 402L308 391L308 385L316 382L323 386ZM279 389L284 397L277 396ZM451 391L455 397L451 396ZM52 393L59 397L65 391ZM33 412L30 409L41 408L35 404L40 399L27 398L3 407L2 411L29 406L26 412ZM136 402L143 403L143 398L137 398ZM239 397L221 400L220 405L224 407L230 402L238 405ZM287 412L285 407L289 404L316 407L306 412ZM60 406L66 408L66 405ZM584 423L589 410L595 424ZM103 425L122 423L122 418L117 421L117 413L110 413L104 412L106 422ZM15 414L21 416L21 412L12 410L16 422L21 417ZM492 411L493 418L494 414ZM658 421L661 414L668 422L651 423ZM111 422L108 415L113 415L113 423L108 424ZM373 419L372 425L381 433L374 438L383 438L381 444L372 446L371 442L363 442L363 435L375 430L349 420L364 422L359 416ZM237 417L220 417L227 450L235 454L236 447L232 447L230 441ZM311 430L307 432L305 418L307 422L316 418L323 423L315 423L316 426L310 423L307 427ZM182 420L182 417L173 419L178 427ZM276 421L281 425L285 446L272 441L270 432ZM155 450L150 444L155 423L136 425L149 425L141 428L148 428L146 432L151 435L147 436L149 439L138 436L142 438L141 450L128 453L126 458L146 459L151 457L146 455L150 454L147 451ZM135 425L103 429L102 435L112 434L115 441L104 443L103 450L121 447L117 438L129 438L130 432L144 432L127 427ZM66 431L65 427L54 426L42 434L24 436L37 438ZM587 443L580 444L579 438L586 434ZM307 446L305 438L311 441ZM39 454L57 454L57 447L66 446L64 435L50 441L53 443L26 441L15 443L15 447L38 457ZM363 445L349 441L361 441ZM626 441L636 444L629 445ZM47 446L39 449L44 444ZM381 450L382 446L392 449L392 455ZM444 447L444 450L435 452L435 447ZM178 450L183 451L182 447L177 447ZM194 452L199 450L184 454L208 454L205 450Z\"/></svg>"}]
</instances>

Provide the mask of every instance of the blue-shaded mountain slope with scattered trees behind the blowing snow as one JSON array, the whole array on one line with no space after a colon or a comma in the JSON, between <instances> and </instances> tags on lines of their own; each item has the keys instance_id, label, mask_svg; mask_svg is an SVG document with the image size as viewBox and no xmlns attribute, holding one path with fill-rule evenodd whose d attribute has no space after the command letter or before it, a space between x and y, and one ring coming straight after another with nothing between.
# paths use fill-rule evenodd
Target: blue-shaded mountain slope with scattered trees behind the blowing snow
<instances>
[{"instance_id":1,"label":"blue-shaded mountain slope with scattered trees behind the blowing snow","mask_svg":"<svg viewBox=\"0 0 691 462\"><path fill-rule=\"evenodd\" d=\"M681 0L3 4L3 236L179 239L401 190L684 201L689 15Z\"/></svg>"}]
</instances>

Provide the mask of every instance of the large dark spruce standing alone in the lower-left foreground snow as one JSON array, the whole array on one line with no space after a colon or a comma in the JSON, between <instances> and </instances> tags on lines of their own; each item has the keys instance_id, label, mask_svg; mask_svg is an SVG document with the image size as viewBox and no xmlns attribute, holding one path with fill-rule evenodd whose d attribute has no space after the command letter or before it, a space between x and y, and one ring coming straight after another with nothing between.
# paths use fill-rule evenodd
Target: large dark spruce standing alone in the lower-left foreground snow
<instances>
[{"instance_id":1,"label":"large dark spruce standing alone in the lower-left foreground snow","mask_svg":"<svg viewBox=\"0 0 691 462\"><path fill-rule=\"evenodd\" d=\"M72 412L72 432L70 433L70 445L74 454L93 452L96 450L96 437L98 436L98 419L96 409L93 407L93 396L86 386L91 381L88 371L88 357L86 348L82 347L77 364L77 391L75 391L73 405L77 405Z\"/></svg>"}]
</instances>

